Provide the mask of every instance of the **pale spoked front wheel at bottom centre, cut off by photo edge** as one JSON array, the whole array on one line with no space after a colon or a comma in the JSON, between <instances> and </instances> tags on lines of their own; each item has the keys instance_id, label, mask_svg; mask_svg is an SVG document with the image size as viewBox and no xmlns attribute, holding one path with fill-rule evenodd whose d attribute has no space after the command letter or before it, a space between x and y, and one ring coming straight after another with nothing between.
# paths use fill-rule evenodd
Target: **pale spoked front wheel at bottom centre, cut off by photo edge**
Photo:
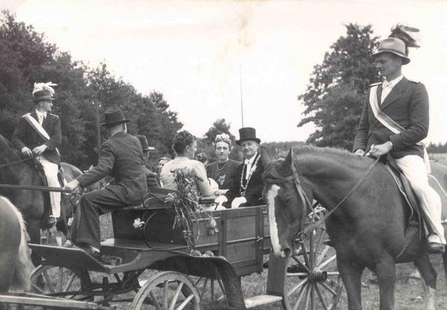
<instances>
[{"instance_id":1,"label":"pale spoked front wheel at bottom centre, cut off by photo edge","mask_svg":"<svg viewBox=\"0 0 447 310\"><path fill-rule=\"evenodd\" d=\"M187 296L180 294L186 291ZM147 280L133 299L131 309L199 310L199 302L198 291L184 274L166 271Z\"/></svg>"}]
</instances>

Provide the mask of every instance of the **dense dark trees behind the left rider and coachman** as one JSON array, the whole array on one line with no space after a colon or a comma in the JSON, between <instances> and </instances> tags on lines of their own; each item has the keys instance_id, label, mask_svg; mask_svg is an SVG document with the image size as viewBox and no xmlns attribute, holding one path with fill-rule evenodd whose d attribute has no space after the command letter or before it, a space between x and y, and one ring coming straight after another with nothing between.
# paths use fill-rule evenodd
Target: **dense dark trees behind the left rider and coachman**
<instances>
[{"instance_id":1,"label":"dense dark trees behind the left rider and coachman","mask_svg":"<svg viewBox=\"0 0 447 310\"><path fill-rule=\"evenodd\" d=\"M17 22L7 10L0 14L0 134L10 139L20 116L34 109L34 82L53 82L53 113L61 118L61 160L87 169L98 156L96 117L119 107L131 119L129 132L145 134L152 155L171 155L171 144L182 123L163 94L149 95L117 78L105 63L89 68L46 42L33 26ZM101 118L102 120L102 118ZM105 132L101 139L104 140Z\"/></svg>"}]
</instances>

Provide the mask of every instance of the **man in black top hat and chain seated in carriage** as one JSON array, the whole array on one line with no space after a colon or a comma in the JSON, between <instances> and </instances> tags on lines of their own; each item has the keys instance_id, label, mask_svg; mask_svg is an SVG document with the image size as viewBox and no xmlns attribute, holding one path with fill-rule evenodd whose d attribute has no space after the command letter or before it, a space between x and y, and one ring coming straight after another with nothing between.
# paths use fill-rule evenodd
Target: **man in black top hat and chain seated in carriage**
<instances>
[{"instance_id":1,"label":"man in black top hat and chain seated in carriage","mask_svg":"<svg viewBox=\"0 0 447 310\"><path fill-rule=\"evenodd\" d=\"M216 202L231 201L231 208L258 206L262 203L264 187L263 161L258 153L261 140L256 137L256 130L252 127L241 128L239 137L236 143L242 148L244 162L237 166L235 182L224 196L217 197Z\"/></svg>"}]
</instances>

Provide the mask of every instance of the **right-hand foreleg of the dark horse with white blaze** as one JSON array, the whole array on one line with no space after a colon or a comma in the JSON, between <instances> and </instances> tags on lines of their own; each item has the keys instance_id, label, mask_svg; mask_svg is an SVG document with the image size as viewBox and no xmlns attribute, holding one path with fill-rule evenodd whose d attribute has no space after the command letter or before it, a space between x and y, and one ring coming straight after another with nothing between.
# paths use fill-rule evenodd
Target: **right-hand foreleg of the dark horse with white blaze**
<instances>
[{"instance_id":1,"label":"right-hand foreleg of the dark horse with white blaze","mask_svg":"<svg viewBox=\"0 0 447 310\"><path fill-rule=\"evenodd\" d=\"M380 310L394 309L394 286L396 281L396 265L391 256L381 258L374 270L379 279Z\"/></svg>"}]
</instances>

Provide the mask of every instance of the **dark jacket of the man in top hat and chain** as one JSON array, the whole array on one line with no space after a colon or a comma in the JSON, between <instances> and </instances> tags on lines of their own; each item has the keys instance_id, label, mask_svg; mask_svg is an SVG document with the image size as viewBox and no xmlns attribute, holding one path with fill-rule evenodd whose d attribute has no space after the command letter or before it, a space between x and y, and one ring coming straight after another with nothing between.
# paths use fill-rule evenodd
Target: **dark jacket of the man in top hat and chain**
<instances>
[{"instance_id":1,"label":"dark jacket of the man in top hat and chain","mask_svg":"<svg viewBox=\"0 0 447 310\"><path fill-rule=\"evenodd\" d=\"M261 154L258 153L256 156L261 156ZM225 194L226 198L228 199L228 202L233 201L235 197L240 196L240 188L241 188L240 178L242 176L242 169L244 169L244 163L237 166L235 182L232 185L230 185L228 192L226 192ZM259 206L263 204L262 200L263 188L264 188L263 177L262 177L263 172L264 172L263 161L260 158L258 160L258 164L256 165L256 169L253 172L253 175L251 176L249 185L247 186L247 190L245 191L245 198L247 199L247 203L243 203L241 207ZM231 203L229 203L229 205L231 206Z\"/></svg>"}]
</instances>

